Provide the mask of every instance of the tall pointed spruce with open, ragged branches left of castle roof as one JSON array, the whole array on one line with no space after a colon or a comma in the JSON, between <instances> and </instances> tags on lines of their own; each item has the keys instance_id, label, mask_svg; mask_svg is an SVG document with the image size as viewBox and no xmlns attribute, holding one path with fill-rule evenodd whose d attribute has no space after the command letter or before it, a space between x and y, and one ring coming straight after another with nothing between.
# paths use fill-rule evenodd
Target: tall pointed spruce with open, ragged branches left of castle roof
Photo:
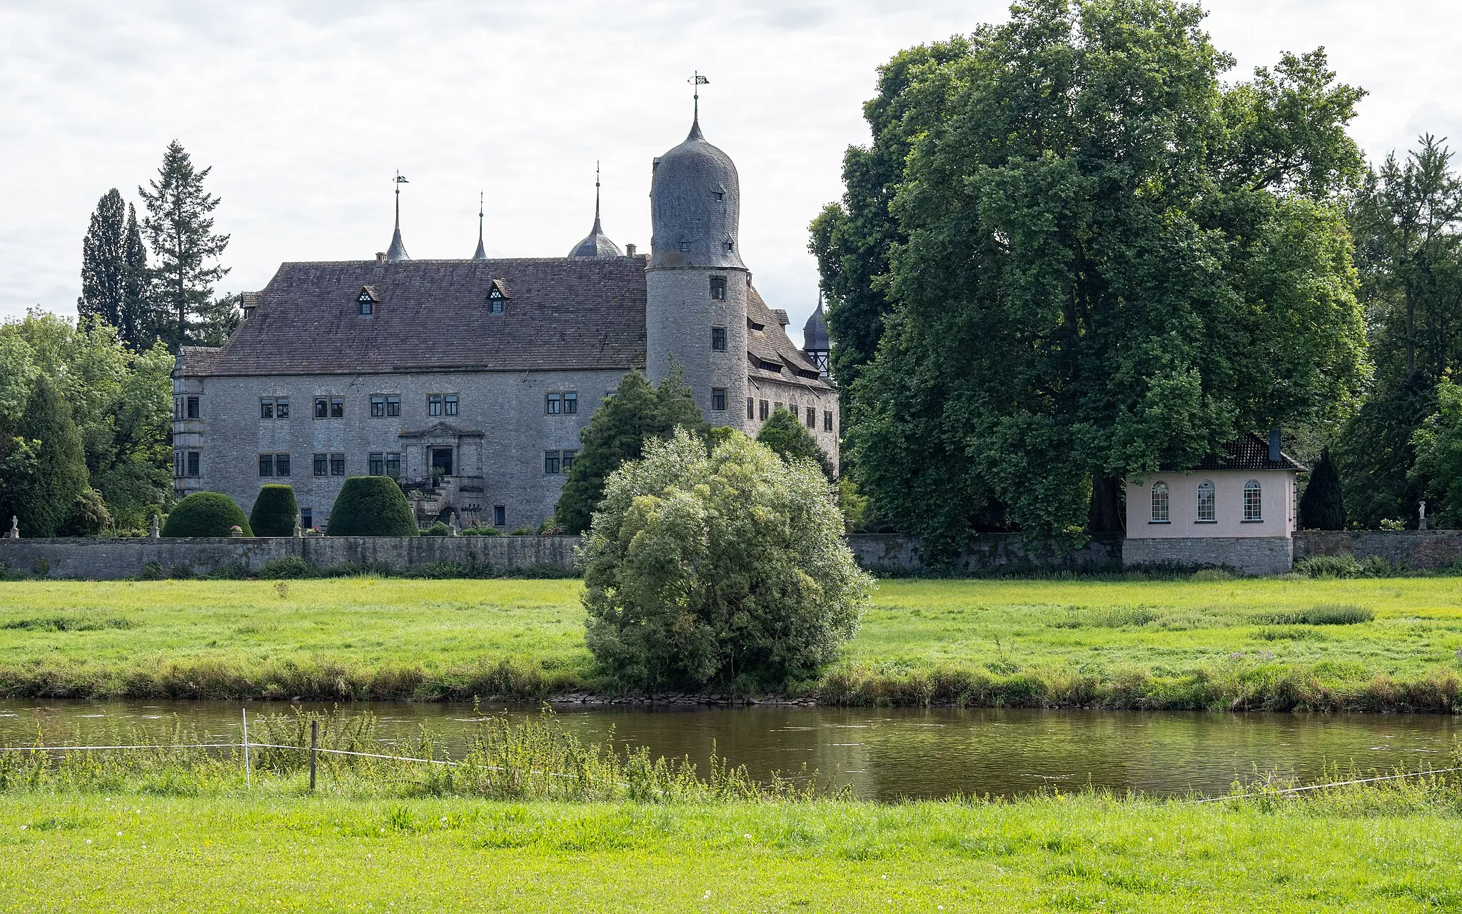
<instances>
[{"instance_id":1,"label":"tall pointed spruce with open, ragged branches left of castle roof","mask_svg":"<svg viewBox=\"0 0 1462 914\"><path fill-rule=\"evenodd\" d=\"M213 284L228 271L212 263L228 247L228 235L213 233L213 209L219 199L203 190L202 171L177 140L168 143L162 167L149 187L137 187L148 216L142 221L148 244L156 259L154 294L159 336L174 352L194 339L199 317L213 300ZM212 263L212 265L211 265Z\"/></svg>"}]
</instances>

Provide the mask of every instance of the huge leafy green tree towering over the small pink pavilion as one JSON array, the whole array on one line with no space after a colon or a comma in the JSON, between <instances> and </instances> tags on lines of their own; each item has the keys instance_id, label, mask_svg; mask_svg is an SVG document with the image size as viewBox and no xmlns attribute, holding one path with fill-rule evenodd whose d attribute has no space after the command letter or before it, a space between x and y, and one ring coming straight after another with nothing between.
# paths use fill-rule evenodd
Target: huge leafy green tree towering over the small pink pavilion
<instances>
[{"instance_id":1,"label":"huge leafy green tree towering over the small pink pavilion","mask_svg":"<svg viewBox=\"0 0 1462 914\"><path fill-rule=\"evenodd\" d=\"M1355 398L1341 194L1361 92L1323 51L1224 86L1200 22L1170 0L1032 0L895 60L912 66L877 105L908 154L849 194L887 199L899 238L832 279L889 301L848 446L931 556L1001 525L1079 540L1113 477Z\"/></svg>"}]
</instances>

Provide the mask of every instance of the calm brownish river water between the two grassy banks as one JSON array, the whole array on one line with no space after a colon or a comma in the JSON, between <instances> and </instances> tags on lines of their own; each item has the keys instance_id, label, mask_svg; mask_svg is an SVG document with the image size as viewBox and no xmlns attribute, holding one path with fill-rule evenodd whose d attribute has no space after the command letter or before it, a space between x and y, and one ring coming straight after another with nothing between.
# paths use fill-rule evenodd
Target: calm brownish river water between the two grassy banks
<instances>
[{"instance_id":1,"label":"calm brownish river water between the two grassy banks","mask_svg":"<svg viewBox=\"0 0 1462 914\"><path fill-rule=\"evenodd\" d=\"M88 740L132 724L170 727L174 717L221 739L238 739L240 708L287 712L260 702L0 702L0 743L39 736ZM323 705L304 705L326 708ZM471 705L357 703L380 718L380 734L425 724L459 750L477 717ZM535 714L497 705L482 711ZM1458 722L1444 715L1288 715L1120 711L749 708L561 708L585 740L689 756L702 768L715 752L754 775L804 768L848 784L860 797L1012 796L1047 787L1102 787L1171 796L1222 793L1254 771L1301 781L1325 768L1443 768Z\"/></svg>"}]
</instances>

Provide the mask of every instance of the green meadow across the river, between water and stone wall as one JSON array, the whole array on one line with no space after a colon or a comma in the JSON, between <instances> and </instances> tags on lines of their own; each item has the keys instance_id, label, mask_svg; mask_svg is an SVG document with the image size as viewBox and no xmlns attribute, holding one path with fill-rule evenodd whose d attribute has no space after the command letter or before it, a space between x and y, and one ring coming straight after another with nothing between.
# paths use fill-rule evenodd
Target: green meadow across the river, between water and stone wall
<instances>
[{"instance_id":1,"label":"green meadow across the river, between water and stone wall","mask_svg":"<svg viewBox=\"0 0 1462 914\"><path fill-rule=\"evenodd\" d=\"M0 695L469 698L607 687L577 581L0 583ZM1316 607L1370 611L1303 624ZM1462 579L883 581L842 702L1449 711Z\"/></svg>"}]
</instances>

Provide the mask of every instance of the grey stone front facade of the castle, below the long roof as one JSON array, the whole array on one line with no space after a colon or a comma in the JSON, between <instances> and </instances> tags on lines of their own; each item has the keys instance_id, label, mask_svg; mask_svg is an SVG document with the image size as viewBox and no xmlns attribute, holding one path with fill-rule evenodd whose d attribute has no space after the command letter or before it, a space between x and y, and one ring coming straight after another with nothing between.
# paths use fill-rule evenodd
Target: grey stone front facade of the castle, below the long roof
<instances>
[{"instance_id":1,"label":"grey stone front facade of the castle, below the long roof","mask_svg":"<svg viewBox=\"0 0 1462 914\"><path fill-rule=\"evenodd\" d=\"M481 437L430 436L433 445L456 449L458 474L477 471L481 493L462 505L462 526L491 525L493 506L506 507L506 529L537 528L553 513L564 475L544 472L544 452L579 450L579 430L589 424L604 396L618 388L623 371L442 371L423 374L330 374L288 377L186 377L174 380L178 396L197 395L200 417L174 421L174 449L202 450L202 475L174 480L183 491L221 491L247 513L265 483L294 486L301 509L323 528L345 477L366 475L371 452L401 453L402 478L427 475L421 439L437 423ZM577 393L575 415L545 412L547 393ZM399 395L399 417L371 417L373 393ZM456 393L458 415L428 415L428 393ZM259 418L260 398L289 398L289 418ZM316 396L342 396L344 418L313 418ZM288 453L287 478L260 477L260 453ZM345 477L316 477L313 453L344 453ZM506 531L504 531L506 532Z\"/></svg>"}]
</instances>

